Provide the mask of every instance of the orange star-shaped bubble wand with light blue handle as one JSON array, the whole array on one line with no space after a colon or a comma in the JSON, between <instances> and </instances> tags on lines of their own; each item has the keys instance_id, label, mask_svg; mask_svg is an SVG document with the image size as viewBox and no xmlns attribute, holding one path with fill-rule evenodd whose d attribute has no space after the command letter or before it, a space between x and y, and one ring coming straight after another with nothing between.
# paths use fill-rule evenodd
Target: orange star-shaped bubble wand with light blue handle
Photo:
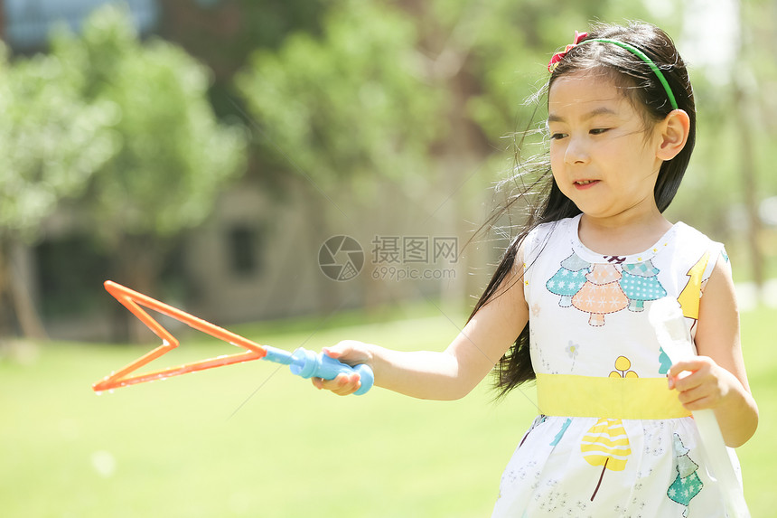
<instances>
[{"instance_id":1,"label":"orange star-shaped bubble wand with light blue handle","mask_svg":"<svg viewBox=\"0 0 777 518\"><path fill-rule=\"evenodd\" d=\"M142 293L121 286L113 281L107 280L105 282L105 288L108 290L108 293L115 297L122 305L126 306L126 308L143 322L146 327L161 338L162 344L153 351L145 353L135 362L129 363L116 372L111 372L103 380L94 383L92 389L96 392L110 391L145 381L164 380L188 372L204 371L214 367L231 365L232 363L250 362L253 360L267 360L289 365L293 374L302 376L303 378L312 378L315 376L325 380L332 380L340 373L350 374L352 372L357 372L360 375L361 387L354 393L360 395L369 391L372 387L374 378L372 370L368 365L360 364L351 367L350 365L338 362L323 353L316 354L307 351L302 347L295 350L294 353L288 353L287 351L276 349L275 347L270 347L268 345L259 345L239 334L234 334L218 325L213 325L201 318L192 316L173 306L168 306L154 298L147 297ZM173 334L167 331L167 329L159 324L159 322L154 320L154 318L145 311L144 307L162 315L170 316L179 322L183 322L183 324L189 325L193 329L205 334L210 334L215 338L241 347L246 351L243 353L226 354L198 362L185 363L178 367L169 367L161 371L133 374L133 372L136 372L145 364L153 362L155 359L165 353L169 353L179 345L178 340Z\"/></svg>"}]
</instances>

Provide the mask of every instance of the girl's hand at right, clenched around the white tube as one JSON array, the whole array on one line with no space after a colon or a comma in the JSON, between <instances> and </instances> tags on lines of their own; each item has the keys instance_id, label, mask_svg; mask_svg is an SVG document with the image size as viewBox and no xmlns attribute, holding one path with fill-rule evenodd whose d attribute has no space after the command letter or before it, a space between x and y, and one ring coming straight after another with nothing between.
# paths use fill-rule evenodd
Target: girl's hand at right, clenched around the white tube
<instances>
[{"instance_id":1,"label":"girl's hand at right, clenched around the white tube","mask_svg":"<svg viewBox=\"0 0 777 518\"><path fill-rule=\"evenodd\" d=\"M688 410L715 409L739 384L735 375L707 356L695 356L669 369L669 390L679 391L679 401Z\"/></svg>"}]
</instances>

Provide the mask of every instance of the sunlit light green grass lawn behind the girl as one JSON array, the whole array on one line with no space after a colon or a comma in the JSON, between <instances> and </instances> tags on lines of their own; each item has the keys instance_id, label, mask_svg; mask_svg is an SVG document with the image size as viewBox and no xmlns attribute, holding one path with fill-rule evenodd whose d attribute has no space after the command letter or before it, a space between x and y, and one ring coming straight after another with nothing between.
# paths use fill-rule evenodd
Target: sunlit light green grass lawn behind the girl
<instances>
[{"instance_id":1,"label":"sunlit light green grass lawn behind the girl","mask_svg":"<svg viewBox=\"0 0 777 518\"><path fill-rule=\"evenodd\" d=\"M318 330L315 321L300 321L235 331L289 350L318 350L343 338L442 349L463 322L435 311L417 315L369 325L355 325L359 316L351 316ZM774 516L777 318L761 309L745 314L743 326L761 408L760 429L739 450L745 493L754 517ZM233 352L185 344L162 366ZM0 359L0 514L488 516L501 470L536 413L531 389L499 404L491 403L487 384L454 402L379 389L339 398L264 362L100 396L91 391L93 381L148 349L48 344L24 363Z\"/></svg>"}]
</instances>

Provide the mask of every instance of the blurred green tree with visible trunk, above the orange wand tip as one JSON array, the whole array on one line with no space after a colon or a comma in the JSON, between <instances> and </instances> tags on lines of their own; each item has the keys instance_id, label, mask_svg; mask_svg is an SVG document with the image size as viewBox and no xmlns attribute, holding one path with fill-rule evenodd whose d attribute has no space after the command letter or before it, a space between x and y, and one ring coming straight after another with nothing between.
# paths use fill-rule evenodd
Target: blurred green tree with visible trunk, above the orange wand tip
<instances>
[{"instance_id":1,"label":"blurred green tree with visible trunk, above the orange wand tip","mask_svg":"<svg viewBox=\"0 0 777 518\"><path fill-rule=\"evenodd\" d=\"M117 278L153 292L170 239L201 224L244 170L245 131L214 116L205 67L169 42L139 41L121 8L99 9L79 35L57 33L51 54L81 72L85 102L110 107L116 150L82 208Z\"/></svg>"}]
</instances>

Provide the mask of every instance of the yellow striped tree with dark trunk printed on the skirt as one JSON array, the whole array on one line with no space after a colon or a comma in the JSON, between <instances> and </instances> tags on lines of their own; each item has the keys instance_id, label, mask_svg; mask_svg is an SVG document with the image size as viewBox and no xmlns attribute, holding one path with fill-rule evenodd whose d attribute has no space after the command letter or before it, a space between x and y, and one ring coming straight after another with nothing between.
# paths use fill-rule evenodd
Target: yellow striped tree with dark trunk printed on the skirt
<instances>
[{"instance_id":1,"label":"yellow striped tree with dark trunk printed on the skirt","mask_svg":"<svg viewBox=\"0 0 777 518\"><path fill-rule=\"evenodd\" d=\"M628 457L632 455L629 436L626 435L626 429L623 428L623 421L621 419L599 419L596 421L596 424L585 433L583 442L580 444L580 451L583 452L585 461L591 466L603 466L602 475L599 476L594 494L591 495L593 502L599 491L599 486L602 485L604 472L608 469L623 471Z\"/></svg>"}]
</instances>

